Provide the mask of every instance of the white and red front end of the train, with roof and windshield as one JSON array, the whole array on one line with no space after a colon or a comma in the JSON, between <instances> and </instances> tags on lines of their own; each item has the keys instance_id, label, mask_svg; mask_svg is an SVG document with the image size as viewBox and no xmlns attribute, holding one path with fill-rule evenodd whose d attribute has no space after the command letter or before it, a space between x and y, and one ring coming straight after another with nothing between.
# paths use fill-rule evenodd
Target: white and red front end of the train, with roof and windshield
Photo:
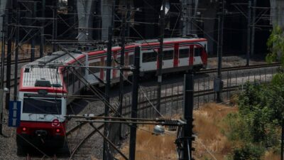
<instances>
[{"instance_id":1,"label":"white and red front end of the train, with roof and windshield","mask_svg":"<svg viewBox=\"0 0 284 160\"><path fill-rule=\"evenodd\" d=\"M58 148L65 144L66 98L62 95L67 91L62 87L62 75L56 68L39 68L33 64L36 61L21 69L18 152L31 147Z\"/></svg>"}]
</instances>

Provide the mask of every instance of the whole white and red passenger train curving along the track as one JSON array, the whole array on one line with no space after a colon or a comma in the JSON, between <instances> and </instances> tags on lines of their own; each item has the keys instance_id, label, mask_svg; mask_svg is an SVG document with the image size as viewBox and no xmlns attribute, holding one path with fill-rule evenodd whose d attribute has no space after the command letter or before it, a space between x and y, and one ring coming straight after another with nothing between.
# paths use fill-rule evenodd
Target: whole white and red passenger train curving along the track
<instances>
[{"instance_id":1,"label":"whole white and red passenger train curving along the track","mask_svg":"<svg viewBox=\"0 0 284 160\"><path fill-rule=\"evenodd\" d=\"M155 73L158 68L157 40L136 41L125 48L125 65L133 65L136 46L141 47L141 76ZM120 47L112 51L111 65L119 65ZM173 73L207 66L207 40L204 38L165 38L163 43L163 73ZM70 56L72 55L72 56ZM80 73L92 85L105 80L102 68L50 68L48 64L85 66L107 65L107 50L90 52L55 52L28 63L21 68L18 100L21 101L21 124L17 128L18 149L26 146L60 147L65 144L67 100L66 95L75 95L84 87L75 72ZM38 67L43 66L43 67ZM94 75L93 75L94 74ZM126 72L125 76L131 75ZM119 80L119 70L111 70L111 82ZM63 96L62 96L63 95Z\"/></svg>"}]
</instances>

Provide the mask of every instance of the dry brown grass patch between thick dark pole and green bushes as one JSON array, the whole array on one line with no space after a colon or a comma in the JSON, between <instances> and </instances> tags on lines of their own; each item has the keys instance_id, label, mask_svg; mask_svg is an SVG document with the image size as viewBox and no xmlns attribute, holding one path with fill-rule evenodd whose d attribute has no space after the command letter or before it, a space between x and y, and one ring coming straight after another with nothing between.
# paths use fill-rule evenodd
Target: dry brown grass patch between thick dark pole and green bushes
<instances>
[{"instance_id":1,"label":"dry brown grass patch between thick dark pole and green bushes","mask_svg":"<svg viewBox=\"0 0 284 160\"><path fill-rule=\"evenodd\" d=\"M231 151L231 144L220 132L222 128L222 119L230 112L236 112L236 107L226 107L209 103L200 110L194 112L195 118L194 132L197 134L195 143L195 158L204 159L211 157L210 151L217 159L224 159L224 155ZM206 149L205 149L206 146Z\"/></svg>"}]
</instances>

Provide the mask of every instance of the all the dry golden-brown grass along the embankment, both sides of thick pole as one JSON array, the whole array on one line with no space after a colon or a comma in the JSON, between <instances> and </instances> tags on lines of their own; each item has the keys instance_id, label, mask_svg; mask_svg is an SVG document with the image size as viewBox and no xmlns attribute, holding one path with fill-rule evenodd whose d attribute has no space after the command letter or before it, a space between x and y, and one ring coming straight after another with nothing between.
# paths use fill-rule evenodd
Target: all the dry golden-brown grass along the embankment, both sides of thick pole
<instances>
[{"instance_id":1,"label":"all the dry golden-brown grass along the embankment, both sides of thick pole","mask_svg":"<svg viewBox=\"0 0 284 160\"><path fill-rule=\"evenodd\" d=\"M223 119L231 112L237 112L237 107L227 107L214 103L209 103L200 108L200 110L194 111L194 132L197 137L193 144L195 151L192 153L196 160L204 160L206 158L224 160L225 156L231 153L233 147L239 146L237 143L231 144L221 132L222 128L226 127ZM175 118L178 117L180 116L175 116ZM153 126L139 128L136 142L137 160L177 159L174 144L176 139L175 132L167 132L168 134L164 136L155 136L149 132L153 130ZM128 155L129 144L125 143L121 151ZM123 159L121 156L117 157L118 159ZM268 151L263 156L263 159L278 160L279 155Z\"/></svg>"}]
</instances>

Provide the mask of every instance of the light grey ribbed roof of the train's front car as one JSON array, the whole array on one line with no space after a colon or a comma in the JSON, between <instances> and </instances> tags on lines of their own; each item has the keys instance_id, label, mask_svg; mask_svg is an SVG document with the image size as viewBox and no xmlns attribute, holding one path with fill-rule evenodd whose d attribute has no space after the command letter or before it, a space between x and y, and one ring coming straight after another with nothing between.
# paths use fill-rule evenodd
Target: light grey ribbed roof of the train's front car
<instances>
[{"instance_id":1,"label":"light grey ribbed roof of the train's front car","mask_svg":"<svg viewBox=\"0 0 284 160\"><path fill-rule=\"evenodd\" d=\"M43 58L24 65L21 70L20 90L25 87L42 87L35 84L37 81L49 81L51 86L61 86L58 87L58 90L62 90L63 83L60 70L58 70L58 68L52 68L50 65L67 65L67 63L74 63L76 60L70 55L76 59L80 59L80 56L84 57L82 53L68 54L63 51L58 51L52 55L46 55Z\"/></svg>"}]
</instances>

